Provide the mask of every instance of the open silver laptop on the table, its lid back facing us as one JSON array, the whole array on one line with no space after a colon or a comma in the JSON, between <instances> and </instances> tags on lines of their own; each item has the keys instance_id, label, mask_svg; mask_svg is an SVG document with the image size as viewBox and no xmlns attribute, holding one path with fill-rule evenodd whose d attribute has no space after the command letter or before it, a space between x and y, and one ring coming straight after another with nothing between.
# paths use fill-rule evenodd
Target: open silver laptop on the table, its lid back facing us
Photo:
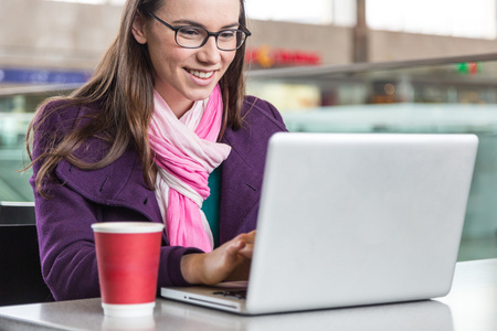
<instances>
[{"instance_id":1,"label":"open silver laptop on the table, its lid back facing us","mask_svg":"<svg viewBox=\"0 0 497 331\"><path fill-rule=\"evenodd\" d=\"M276 134L250 280L161 296L241 314L443 297L477 146L474 135Z\"/></svg>"}]
</instances>

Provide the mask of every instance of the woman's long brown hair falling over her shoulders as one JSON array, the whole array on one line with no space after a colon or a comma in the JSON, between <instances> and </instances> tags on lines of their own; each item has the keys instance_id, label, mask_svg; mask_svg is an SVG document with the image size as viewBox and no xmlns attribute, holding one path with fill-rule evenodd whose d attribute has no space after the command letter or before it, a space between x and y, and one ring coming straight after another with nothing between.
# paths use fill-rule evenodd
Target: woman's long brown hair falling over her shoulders
<instances>
[{"instance_id":1,"label":"woman's long brown hair falling over her shoulders","mask_svg":"<svg viewBox=\"0 0 497 331\"><path fill-rule=\"evenodd\" d=\"M35 191L47 197L43 191L43 182L51 178L56 164L65 159L77 168L92 170L110 164L127 148L135 148L141 159L144 179L152 188L155 178L154 158L148 142L148 127L154 113L155 73L147 45L139 44L131 33L137 12L148 13L160 9L165 0L128 0L123 10L119 33L96 66L93 76L81 88L67 97L51 98L43 103L28 128L27 149L32 159L30 143L31 132L51 116L54 108L45 111L45 105L54 99L65 99L70 104L97 104L99 111L84 127L75 126L72 132L62 137L49 138L52 141L41 156L32 160L29 167L40 162L35 179ZM240 0L239 22L246 26L244 0ZM145 19L150 19L144 15ZM240 129L242 127L241 108L245 96L243 75L245 44L236 51L235 57L220 81L223 109L223 128ZM131 78L133 77L133 78ZM66 106L67 103L64 105ZM64 106L62 106L64 107ZM56 134L53 134L54 136ZM107 141L109 148L105 156L97 160L81 160L75 156L77 148L89 138ZM94 162L93 162L94 161Z\"/></svg>"}]
</instances>

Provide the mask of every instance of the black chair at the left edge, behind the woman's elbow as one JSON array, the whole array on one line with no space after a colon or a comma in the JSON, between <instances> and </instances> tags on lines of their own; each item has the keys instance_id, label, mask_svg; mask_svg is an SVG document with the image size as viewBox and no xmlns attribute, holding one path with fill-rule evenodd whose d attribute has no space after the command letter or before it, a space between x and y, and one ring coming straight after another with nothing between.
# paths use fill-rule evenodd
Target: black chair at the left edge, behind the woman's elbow
<instances>
[{"instance_id":1,"label":"black chair at the left edge, behind the woman's elbow","mask_svg":"<svg viewBox=\"0 0 497 331\"><path fill-rule=\"evenodd\" d=\"M33 203L0 202L0 306L44 302Z\"/></svg>"}]
</instances>

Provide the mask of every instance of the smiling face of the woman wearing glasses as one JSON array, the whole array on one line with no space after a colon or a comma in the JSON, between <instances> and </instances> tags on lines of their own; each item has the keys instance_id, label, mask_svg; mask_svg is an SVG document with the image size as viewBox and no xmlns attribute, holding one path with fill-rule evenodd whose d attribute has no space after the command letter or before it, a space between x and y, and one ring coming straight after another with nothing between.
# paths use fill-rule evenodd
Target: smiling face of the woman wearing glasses
<instances>
[{"instance_id":1,"label":"smiling face of the woman wearing glasses","mask_svg":"<svg viewBox=\"0 0 497 331\"><path fill-rule=\"evenodd\" d=\"M165 0L155 14L175 28L198 25L218 32L239 28L240 9L240 0ZM175 41L175 31L151 17L144 20L137 15L133 33L137 42L147 44L155 87L178 117L194 100L209 97L236 53L218 50L214 36L200 49L181 47Z\"/></svg>"}]
</instances>

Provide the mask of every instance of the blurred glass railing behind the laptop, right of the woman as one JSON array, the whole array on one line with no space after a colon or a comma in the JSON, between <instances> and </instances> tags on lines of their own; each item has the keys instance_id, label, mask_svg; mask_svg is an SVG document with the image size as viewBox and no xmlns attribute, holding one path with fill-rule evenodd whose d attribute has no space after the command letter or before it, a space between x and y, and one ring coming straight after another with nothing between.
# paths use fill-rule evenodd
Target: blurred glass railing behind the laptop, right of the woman
<instances>
[{"instance_id":1,"label":"blurred glass railing behind the laptop, right of the woman","mask_svg":"<svg viewBox=\"0 0 497 331\"><path fill-rule=\"evenodd\" d=\"M497 54L257 71L290 131L476 134L459 259L497 257Z\"/></svg>"}]
</instances>

